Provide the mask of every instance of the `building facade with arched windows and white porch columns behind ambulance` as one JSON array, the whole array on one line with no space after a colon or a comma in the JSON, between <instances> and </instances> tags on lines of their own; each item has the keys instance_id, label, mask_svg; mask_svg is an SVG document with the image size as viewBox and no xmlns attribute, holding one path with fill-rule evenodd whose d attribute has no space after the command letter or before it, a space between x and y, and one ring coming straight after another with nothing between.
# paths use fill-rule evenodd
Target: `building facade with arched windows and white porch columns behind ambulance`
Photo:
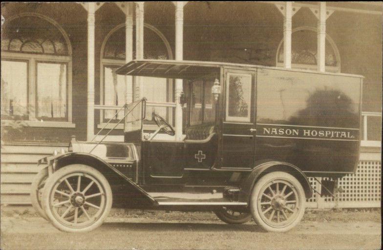
<instances>
[{"instance_id":1,"label":"building facade with arched windows and white porch columns behind ambulance","mask_svg":"<svg viewBox=\"0 0 383 250\"><path fill-rule=\"evenodd\" d=\"M10 204L26 192L12 185L28 189L37 171L31 163L72 135L92 139L126 103L146 97L148 114L166 117L172 140L182 136L179 96L188 89L179 80L115 74L132 59L363 75L361 146L380 166L382 3L9 2L1 15L1 179L8 185L1 194ZM123 140L117 128L108 140Z\"/></svg>"}]
</instances>

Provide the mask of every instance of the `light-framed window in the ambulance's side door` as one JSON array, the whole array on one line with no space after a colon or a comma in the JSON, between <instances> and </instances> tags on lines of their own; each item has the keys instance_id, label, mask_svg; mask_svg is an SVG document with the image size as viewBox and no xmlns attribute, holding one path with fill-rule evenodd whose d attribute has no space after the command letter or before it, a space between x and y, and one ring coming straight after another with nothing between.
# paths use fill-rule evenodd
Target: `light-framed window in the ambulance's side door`
<instances>
[{"instance_id":1,"label":"light-framed window in the ambulance's side door","mask_svg":"<svg viewBox=\"0 0 383 250\"><path fill-rule=\"evenodd\" d=\"M226 120L250 122L251 75L228 73Z\"/></svg>"}]
</instances>

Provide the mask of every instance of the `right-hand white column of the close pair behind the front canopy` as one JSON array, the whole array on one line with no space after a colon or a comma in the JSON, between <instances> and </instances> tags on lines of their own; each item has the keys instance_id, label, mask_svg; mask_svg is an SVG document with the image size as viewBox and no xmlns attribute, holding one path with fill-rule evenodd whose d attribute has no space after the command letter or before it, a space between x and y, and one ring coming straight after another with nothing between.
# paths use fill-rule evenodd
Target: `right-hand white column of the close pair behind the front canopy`
<instances>
[{"instance_id":1,"label":"right-hand white column of the close pair behind the front canopy","mask_svg":"<svg viewBox=\"0 0 383 250\"><path fill-rule=\"evenodd\" d=\"M144 2L136 2L136 60L144 59ZM143 98L141 77L134 77L134 100Z\"/></svg>"}]
</instances>

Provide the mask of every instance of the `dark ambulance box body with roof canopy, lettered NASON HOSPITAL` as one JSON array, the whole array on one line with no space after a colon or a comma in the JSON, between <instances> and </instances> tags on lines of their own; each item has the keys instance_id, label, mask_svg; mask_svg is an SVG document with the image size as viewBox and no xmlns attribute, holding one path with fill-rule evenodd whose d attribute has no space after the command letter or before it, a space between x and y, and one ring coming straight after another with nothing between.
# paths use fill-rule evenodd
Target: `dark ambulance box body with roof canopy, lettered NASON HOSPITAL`
<instances>
[{"instance_id":1,"label":"dark ambulance box body with roof canopy, lettered NASON HOSPITAL","mask_svg":"<svg viewBox=\"0 0 383 250\"><path fill-rule=\"evenodd\" d=\"M292 164L306 176L356 170L362 76L171 60L132 61L117 73L186 83L186 140L174 153L184 155L183 167L171 172L251 172L262 162ZM220 85L215 101L213 84ZM196 161L199 151L206 160Z\"/></svg>"}]
</instances>

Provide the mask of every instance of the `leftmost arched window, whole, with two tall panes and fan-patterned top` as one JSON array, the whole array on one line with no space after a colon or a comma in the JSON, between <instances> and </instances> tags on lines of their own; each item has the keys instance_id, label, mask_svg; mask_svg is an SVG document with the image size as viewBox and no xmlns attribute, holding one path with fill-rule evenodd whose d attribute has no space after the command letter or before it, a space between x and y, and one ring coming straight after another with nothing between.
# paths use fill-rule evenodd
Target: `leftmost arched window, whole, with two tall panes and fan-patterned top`
<instances>
[{"instance_id":1,"label":"leftmost arched window, whole, with two tall panes and fan-patterned top","mask_svg":"<svg viewBox=\"0 0 383 250\"><path fill-rule=\"evenodd\" d=\"M1 33L1 118L71 122L71 48L64 30L25 13L6 20Z\"/></svg>"}]
</instances>

